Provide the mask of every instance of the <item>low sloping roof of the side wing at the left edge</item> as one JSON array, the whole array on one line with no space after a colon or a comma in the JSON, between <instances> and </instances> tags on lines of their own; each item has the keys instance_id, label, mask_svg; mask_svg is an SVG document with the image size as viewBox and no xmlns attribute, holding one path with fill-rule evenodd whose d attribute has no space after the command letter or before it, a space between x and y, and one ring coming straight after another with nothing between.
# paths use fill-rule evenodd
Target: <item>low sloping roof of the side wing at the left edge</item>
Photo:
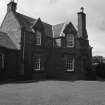
<instances>
[{"instance_id":1,"label":"low sloping roof of the side wing at the left edge","mask_svg":"<svg viewBox=\"0 0 105 105\"><path fill-rule=\"evenodd\" d=\"M12 50L18 50L18 48L13 43L13 41L4 32L0 32L0 47L12 49Z\"/></svg>"}]
</instances>

